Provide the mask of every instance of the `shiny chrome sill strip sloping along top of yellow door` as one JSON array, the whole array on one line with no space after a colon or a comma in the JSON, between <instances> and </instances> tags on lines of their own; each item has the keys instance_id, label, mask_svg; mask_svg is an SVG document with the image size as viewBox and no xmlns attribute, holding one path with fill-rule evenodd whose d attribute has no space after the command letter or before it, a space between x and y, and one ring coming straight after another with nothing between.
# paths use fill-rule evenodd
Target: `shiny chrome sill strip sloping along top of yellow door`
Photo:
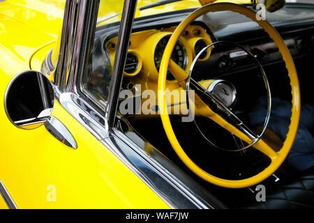
<instances>
[{"instance_id":1,"label":"shiny chrome sill strip sloping along top of yellow door","mask_svg":"<svg viewBox=\"0 0 314 223\"><path fill-rule=\"evenodd\" d=\"M172 208L225 208L220 201L184 174L172 161L156 148L149 146L149 153L137 146L117 129L108 128L107 121L82 98L73 93L57 91L60 104L84 128L119 157L151 190ZM140 137L137 136L139 139ZM149 145L147 141L144 144ZM147 150L148 151L148 150Z\"/></svg>"}]
</instances>

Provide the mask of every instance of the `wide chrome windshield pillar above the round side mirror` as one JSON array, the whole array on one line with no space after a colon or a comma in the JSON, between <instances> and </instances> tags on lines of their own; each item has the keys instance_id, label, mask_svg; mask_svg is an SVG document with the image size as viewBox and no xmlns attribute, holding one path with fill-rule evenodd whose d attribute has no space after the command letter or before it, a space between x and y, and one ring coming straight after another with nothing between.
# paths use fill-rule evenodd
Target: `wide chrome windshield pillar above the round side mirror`
<instances>
[{"instance_id":1,"label":"wide chrome windshield pillar above the round side mirror","mask_svg":"<svg viewBox=\"0 0 314 223\"><path fill-rule=\"evenodd\" d=\"M88 72L99 0L66 1L54 84L61 92L77 93L80 73Z\"/></svg>"}]
</instances>

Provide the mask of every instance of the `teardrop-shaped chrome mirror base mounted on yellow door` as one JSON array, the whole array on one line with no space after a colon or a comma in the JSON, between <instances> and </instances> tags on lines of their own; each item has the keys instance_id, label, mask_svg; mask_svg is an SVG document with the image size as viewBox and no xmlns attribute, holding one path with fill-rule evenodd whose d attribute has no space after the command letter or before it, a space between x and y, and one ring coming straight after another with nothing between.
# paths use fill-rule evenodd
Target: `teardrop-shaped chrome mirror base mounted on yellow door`
<instances>
[{"instance_id":1,"label":"teardrop-shaped chrome mirror base mounted on yellow door","mask_svg":"<svg viewBox=\"0 0 314 223\"><path fill-rule=\"evenodd\" d=\"M77 143L73 137L73 134L70 133L68 128L66 128L66 126L63 125L63 123L61 123L58 118L51 116L45 123L45 128L66 146L74 149L77 148Z\"/></svg>"}]
</instances>

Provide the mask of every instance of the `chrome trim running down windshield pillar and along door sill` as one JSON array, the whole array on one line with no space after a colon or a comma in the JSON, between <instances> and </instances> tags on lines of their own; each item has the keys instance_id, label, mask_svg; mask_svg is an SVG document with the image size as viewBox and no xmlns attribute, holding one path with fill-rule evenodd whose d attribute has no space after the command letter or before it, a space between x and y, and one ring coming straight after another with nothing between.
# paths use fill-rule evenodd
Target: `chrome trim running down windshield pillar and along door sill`
<instances>
[{"instance_id":1,"label":"chrome trim running down windshield pillar and along door sill","mask_svg":"<svg viewBox=\"0 0 314 223\"><path fill-rule=\"evenodd\" d=\"M126 2L131 4L131 1L127 0ZM54 72L54 92L57 100L171 208L225 208L207 190L201 189L202 187L198 183L188 185L184 182L183 178L190 178L172 161L163 158L156 148L154 148L154 153L144 153L133 141L124 137L123 133L113 129L112 125L108 123L108 116L105 116L105 109L100 114L80 95L81 88L77 89L77 86L80 86L78 81L81 80L82 73L87 72L86 69L89 68L86 64L91 59L98 6L99 0L66 1L59 59L57 68L52 71ZM42 68L46 71L50 70L47 64L43 64ZM121 84L119 81L121 80L117 79L116 82L113 82L116 84L115 86L111 83L112 91L119 91L119 84ZM89 98L86 94L84 97ZM112 118L112 114L114 114L114 118L116 117L117 108L110 108L114 99L112 97L107 103L106 109L114 111L111 112L109 118ZM93 100L91 101L93 102ZM166 160L165 163L169 164L169 168L171 166L172 170L167 169L167 164L165 164L167 167L163 167L154 160L156 157ZM182 176L179 177L174 172L181 172Z\"/></svg>"}]
</instances>

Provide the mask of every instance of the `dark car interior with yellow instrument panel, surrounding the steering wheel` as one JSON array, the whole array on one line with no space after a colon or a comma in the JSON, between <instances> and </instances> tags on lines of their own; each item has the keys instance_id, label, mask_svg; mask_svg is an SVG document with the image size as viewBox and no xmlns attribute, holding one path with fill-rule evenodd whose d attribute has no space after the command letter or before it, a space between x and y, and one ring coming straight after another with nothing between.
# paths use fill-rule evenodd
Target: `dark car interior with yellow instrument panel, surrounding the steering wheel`
<instances>
[{"instance_id":1,"label":"dark car interior with yellow instrument panel, surrounding the steering wheel","mask_svg":"<svg viewBox=\"0 0 314 223\"><path fill-rule=\"evenodd\" d=\"M142 86L142 91L146 89L157 91L160 62L165 47L174 29L192 11L187 9L135 19L121 86L121 90L133 92L131 100L140 95L137 84ZM292 54L299 76L302 107L304 105L313 107L311 79L314 70L314 6L290 3L276 13L267 13L267 20L280 33ZM93 102L99 111L104 109L110 91L110 75L117 49L118 33L119 22L98 27L91 72L82 77L80 86L82 96ZM209 45L211 47L202 50ZM195 56L197 61L190 71ZM236 89L237 99L227 103L230 103L235 114L246 123L250 123L256 134L260 134L263 128L263 125L254 123L257 117L256 109L263 107L264 99L269 96L260 66L264 69L269 82L273 106L276 107L276 103L286 103L287 113L291 112L289 107L292 106L292 89L282 56L267 33L244 15L220 11L198 18L188 25L180 36L171 59L181 69L190 71L190 76L197 82L214 79L232 83L230 86ZM178 87L171 71L167 72L166 86L167 89ZM125 98L120 98L121 103L124 100ZM151 109L158 110L157 101ZM267 110L267 106L265 109ZM269 157L255 149L244 148L245 142L209 118L195 116L195 121L182 122L181 115L172 115L170 120L184 151L202 169L214 176L240 180L255 176L269 166ZM174 162L179 169L228 208L314 207L314 168L300 171L289 162L284 162L272 176L261 183L267 187L267 201L259 203L255 199L255 187L239 189L219 187L202 180L190 171L167 140L158 114L136 112L121 114L119 122L121 132L131 129L144 139L146 144L151 144L163 153L167 159ZM274 122L274 119L269 119L269 126L276 125L271 122ZM288 126L283 125L281 129L287 132ZM313 125L308 131L313 137ZM281 135L270 129L267 129L264 137L265 141L278 145L278 148L281 148L285 141ZM308 153L308 156L313 157L314 154Z\"/></svg>"}]
</instances>

